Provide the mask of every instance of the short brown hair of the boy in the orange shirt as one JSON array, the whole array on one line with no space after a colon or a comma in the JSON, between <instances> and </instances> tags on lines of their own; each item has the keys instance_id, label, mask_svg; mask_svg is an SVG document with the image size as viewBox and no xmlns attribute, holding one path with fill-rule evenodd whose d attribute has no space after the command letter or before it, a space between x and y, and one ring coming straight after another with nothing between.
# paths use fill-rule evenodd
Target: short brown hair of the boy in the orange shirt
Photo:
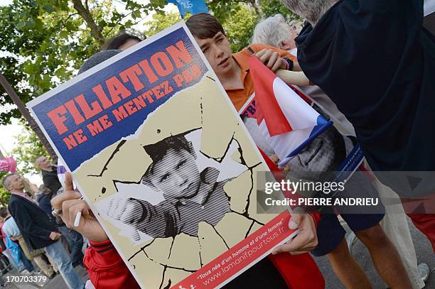
<instances>
[{"instance_id":1,"label":"short brown hair of the boy in the orange shirt","mask_svg":"<svg viewBox=\"0 0 435 289\"><path fill-rule=\"evenodd\" d=\"M188 26L193 36L200 39L213 38L220 32L226 35L222 24L209 13L198 13L190 16L186 21L186 26Z\"/></svg>"}]
</instances>

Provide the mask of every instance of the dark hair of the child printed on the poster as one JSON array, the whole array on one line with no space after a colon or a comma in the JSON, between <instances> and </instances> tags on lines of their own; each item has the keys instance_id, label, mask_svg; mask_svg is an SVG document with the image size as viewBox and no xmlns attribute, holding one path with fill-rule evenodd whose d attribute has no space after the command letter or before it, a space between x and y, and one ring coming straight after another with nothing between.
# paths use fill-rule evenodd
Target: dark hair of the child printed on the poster
<instances>
[{"instance_id":1,"label":"dark hair of the child printed on the poster","mask_svg":"<svg viewBox=\"0 0 435 289\"><path fill-rule=\"evenodd\" d=\"M184 136L185 134L186 133L181 133L175 136L168 136L157 143L144 146L146 153L149 154L151 160L153 160L153 163L151 163L151 165L149 165L149 167L146 169L146 172L141 178L141 182L145 183L146 185L151 185L148 180L149 175L153 173L154 166L159 163L164 156L166 156L166 153L168 153L171 148L176 152L185 150L195 156L192 143L186 139Z\"/></svg>"}]
</instances>

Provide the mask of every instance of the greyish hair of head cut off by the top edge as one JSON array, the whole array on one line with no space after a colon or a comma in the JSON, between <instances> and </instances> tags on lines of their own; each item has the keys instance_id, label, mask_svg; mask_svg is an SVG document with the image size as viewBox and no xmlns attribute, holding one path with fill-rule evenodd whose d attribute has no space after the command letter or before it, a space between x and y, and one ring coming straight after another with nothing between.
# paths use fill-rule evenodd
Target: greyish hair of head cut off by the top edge
<instances>
[{"instance_id":1,"label":"greyish hair of head cut off by the top edge","mask_svg":"<svg viewBox=\"0 0 435 289\"><path fill-rule=\"evenodd\" d=\"M281 0L288 9L303 17L315 26L318 19L338 0Z\"/></svg>"}]
</instances>

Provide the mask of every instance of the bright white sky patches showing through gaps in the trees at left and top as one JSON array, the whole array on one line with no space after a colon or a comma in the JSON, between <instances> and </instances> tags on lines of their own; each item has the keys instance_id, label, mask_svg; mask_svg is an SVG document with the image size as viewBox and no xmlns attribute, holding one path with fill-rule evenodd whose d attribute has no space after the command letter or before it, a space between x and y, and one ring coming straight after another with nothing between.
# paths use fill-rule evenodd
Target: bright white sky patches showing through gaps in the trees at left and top
<instances>
[{"instance_id":1,"label":"bright white sky patches showing through gaps in the trees at left and top","mask_svg":"<svg viewBox=\"0 0 435 289\"><path fill-rule=\"evenodd\" d=\"M13 2L13 0L0 0L0 6L6 6ZM124 6L122 4L119 4L119 2L114 1L113 2L116 8L118 10L123 11ZM165 11L178 11L176 6L173 4L168 4L165 9ZM144 18L141 23L138 23L137 26L133 26L133 28L136 28L136 30L143 30L144 29L144 22L150 21L152 19L152 13L150 13L146 18ZM1 53L0 53L1 54ZM0 111L1 111L0 107ZM16 136L21 133L23 130L23 126L18 124L18 121L14 119L12 121L12 124L8 126L0 126L0 151L4 154L4 156L11 156L12 149L16 146ZM31 180L36 185L42 184L42 178L40 175L25 175L26 178Z\"/></svg>"}]
</instances>

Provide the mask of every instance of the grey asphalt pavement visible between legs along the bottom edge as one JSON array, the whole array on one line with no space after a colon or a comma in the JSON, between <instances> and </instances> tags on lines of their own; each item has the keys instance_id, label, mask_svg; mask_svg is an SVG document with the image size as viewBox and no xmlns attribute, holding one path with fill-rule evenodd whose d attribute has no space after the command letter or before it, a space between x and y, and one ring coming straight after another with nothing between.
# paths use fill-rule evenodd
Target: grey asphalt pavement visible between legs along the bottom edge
<instances>
[{"instance_id":1,"label":"grey asphalt pavement visible between legs along the bottom edge","mask_svg":"<svg viewBox=\"0 0 435 289\"><path fill-rule=\"evenodd\" d=\"M410 220L408 221L409 221L409 229L411 230L412 239L414 241L415 251L417 253L417 261L419 263L427 263L429 265L429 268L431 268L431 276L429 277L429 280L426 282L425 288L433 289L435 288L434 251L432 251L431 244L429 243L429 240L426 239L426 236L421 234L421 232L414 227L414 225ZM361 267L363 267L363 270L365 271L370 282L372 283L373 288L374 289L387 288L387 285L385 285L385 283L382 281L380 276L377 274L377 271L373 266L372 259L370 258L370 254L368 253L367 249L360 241L357 241L355 243L352 249L352 253L353 256L355 256L355 259L358 261L358 263L360 263ZM326 280L326 289L345 289L345 286L343 286L343 284L340 283L340 280L338 280L338 278L333 273L328 258L326 256L314 258L314 259ZM77 271L77 273L80 274L80 276L82 276L84 281L89 279L87 277L85 268L78 266L77 268L75 268L75 270ZM10 271L9 273L6 273L5 276L3 276L3 279L7 281L6 279L8 276L18 276L18 273L16 272L16 270ZM63 288L67 288L67 286L65 285L62 276L57 275L53 279L45 280L45 282L40 282L40 283L10 283L10 282L7 283L6 282L6 288L63 289Z\"/></svg>"}]
</instances>

